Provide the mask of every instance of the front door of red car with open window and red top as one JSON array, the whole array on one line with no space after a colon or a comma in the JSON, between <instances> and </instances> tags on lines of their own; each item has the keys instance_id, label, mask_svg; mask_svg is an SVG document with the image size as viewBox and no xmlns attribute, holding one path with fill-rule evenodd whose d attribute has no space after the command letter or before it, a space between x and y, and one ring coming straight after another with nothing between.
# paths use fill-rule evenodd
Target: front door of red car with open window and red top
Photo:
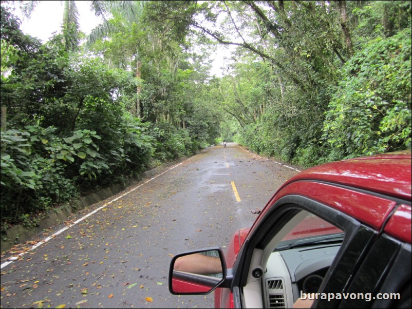
<instances>
[{"instance_id":1,"label":"front door of red car with open window and red top","mask_svg":"<svg viewBox=\"0 0 412 309\"><path fill-rule=\"evenodd\" d=\"M339 295L378 237L393 202L345 186L301 181L285 187L270 203L234 265L235 306L292 307L306 286L312 288L310 293L319 294L315 306L338 307ZM368 206L381 210L368 215ZM297 243L288 247L285 238L308 218L318 220L313 231L319 235L310 235L307 229L304 239L297 237ZM320 225L341 230L342 237L322 231L320 220L325 222Z\"/></svg>"}]
</instances>

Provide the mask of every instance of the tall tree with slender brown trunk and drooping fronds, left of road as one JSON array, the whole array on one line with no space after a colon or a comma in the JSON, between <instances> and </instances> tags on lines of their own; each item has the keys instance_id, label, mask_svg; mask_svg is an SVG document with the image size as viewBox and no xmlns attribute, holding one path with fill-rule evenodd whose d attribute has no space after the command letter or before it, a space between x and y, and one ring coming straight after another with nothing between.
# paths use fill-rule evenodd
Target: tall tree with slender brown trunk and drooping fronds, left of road
<instances>
[{"instance_id":1,"label":"tall tree with slender brown trunk and drooping fronds, left of road","mask_svg":"<svg viewBox=\"0 0 412 309\"><path fill-rule=\"evenodd\" d=\"M136 74L135 114L141 118L147 115L147 111L144 111L144 106L141 104L141 76L144 67L149 65L149 63L143 63L143 60L151 61L151 66L157 70L153 73L159 76L164 63L167 63L171 72L177 72L182 57L180 46L185 44L185 33L188 31L185 27L187 28L189 24L181 22L180 17L176 18L179 12L187 11L186 2L145 1L139 3L139 10L136 10L136 14L111 10L114 18L104 21L102 25L92 30L86 46L90 48L98 40L111 37L116 44L106 44L110 50L106 49L105 55L115 56L116 59L112 58L110 61L123 67L133 63ZM123 33L123 35L118 35L118 33Z\"/></svg>"}]
</instances>

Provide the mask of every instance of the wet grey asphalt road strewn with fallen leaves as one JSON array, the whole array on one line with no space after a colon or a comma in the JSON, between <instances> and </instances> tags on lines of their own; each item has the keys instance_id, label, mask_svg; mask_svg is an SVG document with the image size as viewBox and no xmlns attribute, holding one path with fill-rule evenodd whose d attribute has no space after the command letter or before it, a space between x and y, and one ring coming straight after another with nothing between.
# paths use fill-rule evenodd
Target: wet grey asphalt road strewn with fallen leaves
<instances>
[{"instance_id":1,"label":"wet grey asphalt road strewn with fallen leaves","mask_svg":"<svg viewBox=\"0 0 412 309\"><path fill-rule=\"evenodd\" d=\"M235 144L202 152L40 235L46 238L107 204L5 266L1 308L212 308L213 293L168 292L171 258L211 246L226 252L233 233L252 225L253 212L295 174Z\"/></svg>"}]
</instances>

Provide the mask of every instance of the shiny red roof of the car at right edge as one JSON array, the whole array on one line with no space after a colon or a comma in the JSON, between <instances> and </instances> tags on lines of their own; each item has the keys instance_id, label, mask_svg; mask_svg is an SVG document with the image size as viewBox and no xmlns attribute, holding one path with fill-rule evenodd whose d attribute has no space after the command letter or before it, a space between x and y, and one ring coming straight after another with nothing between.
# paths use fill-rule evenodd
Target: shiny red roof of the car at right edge
<instances>
[{"instance_id":1,"label":"shiny red roof of the car at right edge","mask_svg":"<svg viewBox=\"0 0 412 309\"><path fill-rule=\"evenodd\" d=\"M411 201L411 151L327 163L302 171L294 181L311 180L350 186Z\"/></svg>"}]
</instances>

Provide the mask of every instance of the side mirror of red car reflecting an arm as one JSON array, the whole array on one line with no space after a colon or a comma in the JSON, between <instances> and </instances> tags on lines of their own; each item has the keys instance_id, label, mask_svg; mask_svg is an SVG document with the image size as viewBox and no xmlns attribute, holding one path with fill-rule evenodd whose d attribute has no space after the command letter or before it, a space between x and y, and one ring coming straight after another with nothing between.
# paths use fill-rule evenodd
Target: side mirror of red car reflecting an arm
<instances>
[{"instance_id":1,"label":"side mirror of red car reflecting an arm","mask_svg":"<svg viewBox=\"0 0 412 309\"><path fill-rule=\"evenodd\" d=\"M225 277L226 264L220 248L186 252L171 261L169 291L175 295L209 294Z\"/></svg>"}]
</instances>

